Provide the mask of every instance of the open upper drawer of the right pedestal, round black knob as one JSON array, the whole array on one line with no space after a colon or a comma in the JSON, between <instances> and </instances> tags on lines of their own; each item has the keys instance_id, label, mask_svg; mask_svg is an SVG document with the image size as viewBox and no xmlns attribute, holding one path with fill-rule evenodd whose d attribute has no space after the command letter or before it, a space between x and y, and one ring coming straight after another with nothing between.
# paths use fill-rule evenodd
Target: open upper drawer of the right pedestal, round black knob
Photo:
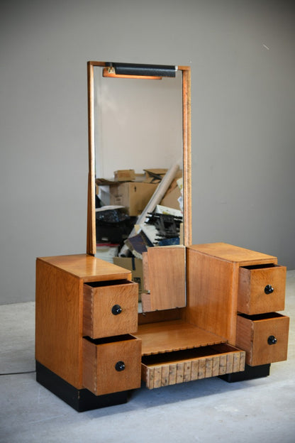
<instances>
[{"instance_id":1,"label":"open upper drawer of the right pedestal, round black knob","mask_svg":"<svg viewBox=\"0 0 295 443\"><path fill-rule=\"evenodd\" d=\"M247 266L239 270L238 311L254 315L284 310L286 267Z\"/></svg>"}]
</instances>

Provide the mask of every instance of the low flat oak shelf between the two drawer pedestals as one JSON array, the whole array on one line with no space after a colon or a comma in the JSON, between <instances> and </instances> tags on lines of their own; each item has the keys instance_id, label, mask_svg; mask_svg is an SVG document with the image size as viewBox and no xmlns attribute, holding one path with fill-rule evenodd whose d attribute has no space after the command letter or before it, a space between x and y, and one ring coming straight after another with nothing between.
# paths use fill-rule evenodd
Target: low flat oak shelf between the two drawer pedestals
<instances>
[{"instance_id":1,"label":"low flat oak shelf between the two drawer pedestals","mask_svg":"<svg viewBox=\"0 0 295 443\"><path fill-rule=\"evenodd\" d=\"M182 320L140 324L135 336L142 340L143 355L197 348L226 341L223 337Z\"/></svg>"}]
</instances>

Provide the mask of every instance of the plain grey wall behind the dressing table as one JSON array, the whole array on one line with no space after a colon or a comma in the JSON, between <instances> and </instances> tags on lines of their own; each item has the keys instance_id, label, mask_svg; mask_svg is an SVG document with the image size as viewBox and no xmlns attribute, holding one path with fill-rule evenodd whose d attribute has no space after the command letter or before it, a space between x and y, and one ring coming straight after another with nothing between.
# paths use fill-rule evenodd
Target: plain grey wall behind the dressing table
<instances>
[{"instance_id":1,"label":"plain grey wall behind the dressing table","mask_svg":"<svg viewBox=\"0 0 295 443\"><path fill-rule=\"evenodd\" d=\"M35 257L86 245L87 60L192 69L194 243L295 268L289 1L2 0L0 297L34 300Z\"/></svg>"}]
</instances>

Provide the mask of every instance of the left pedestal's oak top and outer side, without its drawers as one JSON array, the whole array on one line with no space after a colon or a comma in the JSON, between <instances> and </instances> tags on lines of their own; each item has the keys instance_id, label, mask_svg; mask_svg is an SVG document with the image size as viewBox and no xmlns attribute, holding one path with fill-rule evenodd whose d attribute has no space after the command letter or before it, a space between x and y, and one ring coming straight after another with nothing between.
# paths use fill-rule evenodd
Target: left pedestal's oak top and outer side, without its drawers
<instances>
[{"instance_id":1,"label":"left pedestal's oak top and outer side, without its drawers","mask_svg":"<svg viewBox=\"0 0 295 443\"><path fill-rule=\"evenodd\" d=\"M125 278L130 271L87 254L38 258L36 360L82 388L83 283Z\"/></svg>"}]
</instances>

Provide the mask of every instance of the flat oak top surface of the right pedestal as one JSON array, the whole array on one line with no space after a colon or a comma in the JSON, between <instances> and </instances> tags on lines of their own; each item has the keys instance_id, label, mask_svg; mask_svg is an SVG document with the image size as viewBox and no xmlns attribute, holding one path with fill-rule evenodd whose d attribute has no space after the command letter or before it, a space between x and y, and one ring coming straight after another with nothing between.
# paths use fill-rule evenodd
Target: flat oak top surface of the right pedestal
<instances>
[{"instance_id":1,"label":"flat oak top surface of the right pedestal","mask_svg":"<svg viewBox=\"0 0 295 443\"><path fill-rule=\"evenodd\" d=\"M216 258L221 258L222 260L238 263L240 266L277 263L277 257L226 243L199 244L189 246L189 248Z\"/></svg>"}]
</instances>

